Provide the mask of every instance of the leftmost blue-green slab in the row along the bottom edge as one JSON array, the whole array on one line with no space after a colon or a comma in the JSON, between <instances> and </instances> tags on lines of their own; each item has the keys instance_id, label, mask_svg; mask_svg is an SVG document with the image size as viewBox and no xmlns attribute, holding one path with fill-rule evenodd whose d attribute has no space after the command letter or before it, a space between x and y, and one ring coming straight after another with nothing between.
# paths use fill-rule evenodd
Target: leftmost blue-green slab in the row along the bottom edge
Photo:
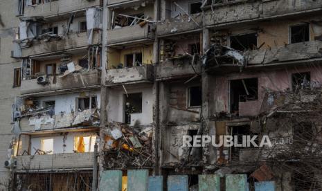
<instances>
[{"instance_id":1,"label":"leftmost blue-green slab in the row along the bottom edge","mask_svg":"<svg viewBox=\"0 0 322 191\"><path fill-rule=\"evenodd\" d=\"M100 172L100 181L98 183L100 191L120 191L122 190L122 171L105 170Z\"/></svg>"}]
</instances>

